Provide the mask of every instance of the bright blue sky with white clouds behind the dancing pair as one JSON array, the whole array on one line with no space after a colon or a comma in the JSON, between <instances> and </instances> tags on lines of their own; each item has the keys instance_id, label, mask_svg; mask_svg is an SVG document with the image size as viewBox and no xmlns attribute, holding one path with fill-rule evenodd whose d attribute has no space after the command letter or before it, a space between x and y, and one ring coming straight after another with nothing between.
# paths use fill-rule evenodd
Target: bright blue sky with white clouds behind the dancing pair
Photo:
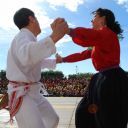
<instances>
[{"instance_id":1,"label":"bright blue sky with white clouds behind the dancing pair","mask_svg":"<svg viewBox=\"0 0 128 128\"><path fill-rule=\"evenodd\" d=\"M19 32L13 23L14 13L26 7L35 12L42 29L38 40L51 34L50 24L58 17L65 18L69 27L92 27L91 12L97 8L107 8L114 12L124 30L120 41L120 66L128 71L128 0L2 0L0 3L0 70L6 70L7 52L14 36ZM74 44L69 36L64 36L57 44L57 53L62 57L84 51L86 48ZM51 58L55 58L53 55ZM57 64L55 71L64 75L95 73L91 59Z\"/></svg>"}]
</instances>

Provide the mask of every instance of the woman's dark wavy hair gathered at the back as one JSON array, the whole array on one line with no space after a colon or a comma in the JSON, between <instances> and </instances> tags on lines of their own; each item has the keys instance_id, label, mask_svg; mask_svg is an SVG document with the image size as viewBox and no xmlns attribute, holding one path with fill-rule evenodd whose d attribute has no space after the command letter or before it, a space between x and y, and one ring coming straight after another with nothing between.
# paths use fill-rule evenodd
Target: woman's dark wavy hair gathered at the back
<instances>
[{"instance_id":1,"label":"woman's dark wavy hair gathered at the back","mask_svg":"<svg viewBox=\"0 0 128 128\"><path fill-rule=\"evenodd\" d=\"M123 30L121 29L118 21L115 20L114 13L111 10L98 8L96 11L92 13L97 13L99 16L105 16L107 27L109 27L113 32L115 32L120 38L123 38Z\"/></svg>"}]
</instances>

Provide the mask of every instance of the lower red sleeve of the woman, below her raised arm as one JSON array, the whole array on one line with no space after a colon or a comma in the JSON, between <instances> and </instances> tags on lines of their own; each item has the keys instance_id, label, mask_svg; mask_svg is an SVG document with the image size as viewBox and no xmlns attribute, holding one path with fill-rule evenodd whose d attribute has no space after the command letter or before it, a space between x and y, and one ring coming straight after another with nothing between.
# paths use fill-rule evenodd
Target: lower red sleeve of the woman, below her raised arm
<instances>
[{"instance_id":1,"label":"lower red sleeve of the woman, below her raised arm","mask_svg":"<svg viewBox=\"0 0 128 128\"><path fill-rule=\"evenodd\" d=\"M63 57L63 62L77 62L91 58L91 51L92 50L85 50L81 53L74 53L69 56Z\"/></svg>"}]
</instances>

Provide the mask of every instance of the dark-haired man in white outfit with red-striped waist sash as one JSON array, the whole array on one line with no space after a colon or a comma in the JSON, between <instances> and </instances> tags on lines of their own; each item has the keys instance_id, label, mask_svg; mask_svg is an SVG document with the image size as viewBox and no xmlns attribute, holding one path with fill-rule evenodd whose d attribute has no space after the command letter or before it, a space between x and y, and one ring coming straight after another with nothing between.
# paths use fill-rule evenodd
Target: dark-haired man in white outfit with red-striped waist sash
<instances>
[{"instance_id":1,"label":"dark-haired man in white outfit with red-striped waist sash","mask_svg":"<svg viewBox=\"0 0 128 128\"><path fill-rule=\"evenodd\" d=\"M8 51L6 76L9 80L10 119L16 117L18 128L56 128L59 117L40 94L41 68L55 68L56 60L47 59L56 52L55 43L68 31L62 18L56 19L51 35L37 41L41 32L32 10L21 8L14 14L20 32Z\"/></svg>"}]
</instances>

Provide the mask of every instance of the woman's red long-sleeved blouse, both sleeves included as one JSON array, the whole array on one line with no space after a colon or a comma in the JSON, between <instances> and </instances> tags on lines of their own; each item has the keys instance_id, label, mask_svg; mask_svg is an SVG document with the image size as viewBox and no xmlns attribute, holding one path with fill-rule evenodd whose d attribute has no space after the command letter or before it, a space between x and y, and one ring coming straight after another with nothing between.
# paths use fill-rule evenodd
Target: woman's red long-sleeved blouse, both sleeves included
<instances>
[{"instance_id":1,"label":"woman's red long-sleeved blouse, both sleeves included","mask_svg":"<svg viewBox=\"0 0 128 128\"><path fill-rule=\"evenodd\" d=\"M83 47L92 47L92 50L71 54L63 58L64 62L77 62L91 58L95 69L98 71L119 65L119 40L116 33L109 28L94 30L78 27L71 29L69 35L74 43Z\"/></svg>"}]
</instances>

